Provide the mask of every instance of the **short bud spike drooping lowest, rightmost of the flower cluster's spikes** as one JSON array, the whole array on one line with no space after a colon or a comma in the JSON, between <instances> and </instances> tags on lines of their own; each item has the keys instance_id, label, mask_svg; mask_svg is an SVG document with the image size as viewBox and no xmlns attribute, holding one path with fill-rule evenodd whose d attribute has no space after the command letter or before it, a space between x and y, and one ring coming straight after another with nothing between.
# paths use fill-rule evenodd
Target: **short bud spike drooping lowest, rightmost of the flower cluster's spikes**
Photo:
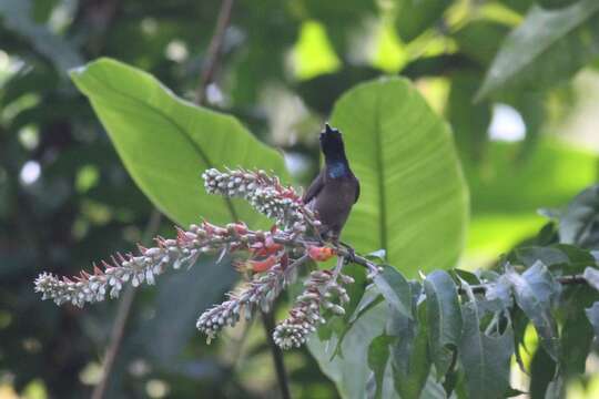
<instances>
[{"instance_id":1,"label":"short bud spike drooping lowest, rightmost of the flower cluster's spikes","mask_svg":"<svg viewBox=\"0 0 599 399\"><path fill-rule=\"evenodd\" d=\"M332 270L312 272L304 291L290 310L290 317L276 326L273 334L275 344L282 349L304 345L307 336L316 330L316 326L325 323L321 309L344 316L343 305L349 301L349 296L343 285L352 283L352 277L341 273L335 275Z\"/></svg>"}]
</instances>

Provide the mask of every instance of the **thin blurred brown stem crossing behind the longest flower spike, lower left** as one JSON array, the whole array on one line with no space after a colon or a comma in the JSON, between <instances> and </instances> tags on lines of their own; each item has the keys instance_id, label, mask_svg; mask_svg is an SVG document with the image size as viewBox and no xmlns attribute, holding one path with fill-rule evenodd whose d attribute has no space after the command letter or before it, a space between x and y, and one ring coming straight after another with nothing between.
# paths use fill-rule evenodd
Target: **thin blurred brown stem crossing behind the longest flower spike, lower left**
<instances>
[{"instance_id":1,"label":"thin blurred brown stem crossing behind the longest flower spike, lower left","mask_svg":"<svg viewBox=\"0 0 599 399\"><path fill-rule=\"evenodd\" d=\"M150 239L158 233L161 219L162 216L160 212L154 208L143 232L142 241L144 244L149 243ZM131 308L133 307L135 289L129 286L125 289L121 301L119 303L119 307L116 309L116 319L114 320L112 331L110 332L109 347L106 348L106 354L104 356L104 365L102 366L102 379L93 389L91 399L104 398L108 381L112 372L112 368L114 367L114 360L116 359L116 355L119 354L119 350L121 348L124 329L126 326L126 321L129 320L129 316L131 315Z\"/></svg>"}]
</instances>

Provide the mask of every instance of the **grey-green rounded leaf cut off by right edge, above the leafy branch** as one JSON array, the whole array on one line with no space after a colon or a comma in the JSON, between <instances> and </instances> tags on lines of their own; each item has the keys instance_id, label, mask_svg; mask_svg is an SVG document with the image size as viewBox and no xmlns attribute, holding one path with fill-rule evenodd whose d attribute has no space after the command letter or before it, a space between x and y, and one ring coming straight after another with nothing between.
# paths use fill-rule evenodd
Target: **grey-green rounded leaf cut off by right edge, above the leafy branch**
<instances>
[{"instance_id":1,"label":"grey-green rounded leaf cut off by right edge, above the leafy branch","mask_svg":"<svg viewBox=\"0 0 599 399\"><path fill-rule=\"evenodd\" d=\"M586 188L561 214L559 238L562 243L599 248L599 185Z\"/></svg>"}]
</instances>

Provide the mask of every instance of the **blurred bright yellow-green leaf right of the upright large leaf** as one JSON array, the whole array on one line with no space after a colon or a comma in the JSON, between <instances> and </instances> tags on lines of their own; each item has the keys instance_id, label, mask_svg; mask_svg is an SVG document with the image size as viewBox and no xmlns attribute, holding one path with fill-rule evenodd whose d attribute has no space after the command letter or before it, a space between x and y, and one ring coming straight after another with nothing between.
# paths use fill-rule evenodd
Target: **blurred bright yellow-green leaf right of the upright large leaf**
<instances>
[{"instance_id":1,"label":"blurred bright yellow-green leaf right of the upright large leaf","mask_svg":"<svg viewBox=\"0 0 599 399\"><path fill-rule=\"evenodd\" d=\"M518 162L518 143L490 142L483 165L465 162L471 197L468 254L496 259L547 222L540 207L558 207L596 181L597 156L542 139Z\"/></svg>"}]
</instances>

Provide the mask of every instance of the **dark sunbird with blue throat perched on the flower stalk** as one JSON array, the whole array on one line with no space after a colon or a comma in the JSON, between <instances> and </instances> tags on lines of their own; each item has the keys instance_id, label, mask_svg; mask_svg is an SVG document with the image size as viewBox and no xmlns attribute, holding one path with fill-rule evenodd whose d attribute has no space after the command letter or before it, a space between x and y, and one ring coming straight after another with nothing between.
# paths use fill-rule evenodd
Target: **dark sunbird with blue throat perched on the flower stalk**
<instances>
[{"instance_id":1,"label":"dark sunbird with blue throat perched on the flower stalk","mask_svg":"<svg viewBox=\"0 0 599 399\"><path fill-rule=\"evenodd\" d=\"M342 132L325 123L319 140L325 164L302 200L317 213L321 236L338 244L349 212L359 198L359 181L349 167Z\"/></svg>"}]
</instances>

